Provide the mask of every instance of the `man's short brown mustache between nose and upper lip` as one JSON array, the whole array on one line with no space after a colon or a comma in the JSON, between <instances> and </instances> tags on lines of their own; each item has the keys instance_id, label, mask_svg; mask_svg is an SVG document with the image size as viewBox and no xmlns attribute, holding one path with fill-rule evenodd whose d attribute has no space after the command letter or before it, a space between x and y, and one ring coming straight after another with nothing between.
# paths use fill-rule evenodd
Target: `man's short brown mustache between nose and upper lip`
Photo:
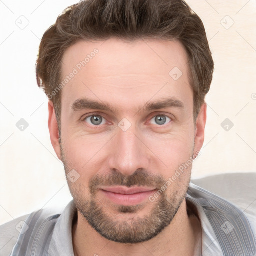
<instances>
[{"instance_id":1,"label":"man's short brown mustache between nose and upper lip","mask_svg":"<svg viewBox=\"0 0 256 256\"><path fill-rule=\"evenodd\" d=\"M89 180L89 189L94 193L99 186L150 186L160 189L165 183L165 179L161 175L152 175L145 169L137 169L132 175L126 176L119 171L112 170L104 176L95 175Z\"/></svg>"}]
</instances>

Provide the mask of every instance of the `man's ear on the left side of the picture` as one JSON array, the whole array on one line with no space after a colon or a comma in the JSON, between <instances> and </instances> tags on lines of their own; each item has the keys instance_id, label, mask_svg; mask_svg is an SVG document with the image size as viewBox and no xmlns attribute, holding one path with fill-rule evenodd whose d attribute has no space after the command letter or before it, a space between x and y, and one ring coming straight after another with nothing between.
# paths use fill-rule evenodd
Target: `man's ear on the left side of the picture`
<instances>
[{"instance_id":1,"label":"man's ear on the left side of the picture","mask_svg":"<svg viewBox=\"0 0 256 256\"><path fill-rule=\"evenodd\" d=\"M48 102L49 119L48 127L50 132L50 141L57 154L59 160L61 160L60 145L59 145L59 134L58 134L58 123L56 120L56 114L52 101Z\"/></svg>"}]
</instances>

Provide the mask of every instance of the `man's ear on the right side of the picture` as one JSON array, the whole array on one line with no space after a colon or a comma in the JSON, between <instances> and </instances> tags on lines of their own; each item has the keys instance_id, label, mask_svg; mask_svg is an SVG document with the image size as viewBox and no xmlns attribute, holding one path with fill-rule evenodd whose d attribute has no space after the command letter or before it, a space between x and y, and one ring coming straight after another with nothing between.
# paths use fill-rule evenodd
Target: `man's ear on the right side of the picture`
<instances>
[{"instance_id":1,"label":"man's ear on the right side of the picture","mask_svg":"<svg viewBox=\"0 0 256 256\"><path fill-rule=\"evenodd\" d=\"M195 155L198 154L196 152L199 152L201 150L203 141L204 141L206 110L207 110L207 104L204 102L201 106L201 109L196 119L196 127L195 127L195 134L194 134L194 154Z\"/></svg>"}]
</instances>

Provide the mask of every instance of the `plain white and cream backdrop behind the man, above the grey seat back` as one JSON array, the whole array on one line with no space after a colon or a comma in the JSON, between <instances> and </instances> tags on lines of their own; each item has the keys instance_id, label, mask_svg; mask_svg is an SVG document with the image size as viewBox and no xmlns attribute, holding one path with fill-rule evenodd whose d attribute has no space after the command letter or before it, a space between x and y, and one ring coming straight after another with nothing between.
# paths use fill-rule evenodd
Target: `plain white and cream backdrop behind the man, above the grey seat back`
<instances>
[{"instance_id":1,"label":"plain white and cream backdrop behind the man, above the grey seat back","mask_svg":"<svg viewBox=\"0 0 256 256\"><path fill-rule=\"evenodd\" d=\"M47 98L36 84L35 60L44 31L76 2L0 1L0 224L72 199L50 143ZM256 2L187 3L205 25L215 62L205 140L192 177L255 172ZM21 118L29 125L24 131L16 127ZM234 124L228 131L221 127L226 118Z\"/></svg>"}]
</instances>

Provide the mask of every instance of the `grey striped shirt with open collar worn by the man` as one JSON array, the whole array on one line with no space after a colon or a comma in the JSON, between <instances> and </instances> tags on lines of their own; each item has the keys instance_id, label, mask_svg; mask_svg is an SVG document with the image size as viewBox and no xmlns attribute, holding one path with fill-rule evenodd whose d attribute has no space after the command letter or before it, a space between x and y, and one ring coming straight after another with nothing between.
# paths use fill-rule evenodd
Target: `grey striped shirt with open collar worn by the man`
<instances>
[{"instance_id":1,"label":"grey striped shirt with open collar worn by the man","mask_svg":"<svg viewBox=\"0 0 256 256\"><path fill-rule=\"evenodd\" d=\"M256 255L256 220L252 215L245 215L230 202L193 183L189 185L186 200L198 211L202 227L201 255ZM48 208L29 214L10 256L73 256L72 220L76 211L72 200L59 214Z\"/></svg>"}]
</instances>

